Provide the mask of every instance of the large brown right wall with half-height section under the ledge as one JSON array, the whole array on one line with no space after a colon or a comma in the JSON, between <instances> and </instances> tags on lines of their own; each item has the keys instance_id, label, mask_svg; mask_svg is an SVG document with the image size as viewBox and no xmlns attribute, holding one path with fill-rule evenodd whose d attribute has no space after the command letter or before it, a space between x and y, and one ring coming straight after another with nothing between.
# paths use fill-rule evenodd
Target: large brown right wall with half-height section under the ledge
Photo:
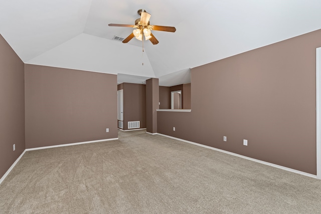
<instances>
[{"instance_id":1,"label":"large brown right wall with half-height section under the ledge","mask_svg":"<svg viewBox=\"0 0 321 214\"><path fill-rule=\"evenodd\" d=\"M192 112L158 112L158 133L316 174L320 38L318 30L192 69Z\"/></svg>"}]
</instances>

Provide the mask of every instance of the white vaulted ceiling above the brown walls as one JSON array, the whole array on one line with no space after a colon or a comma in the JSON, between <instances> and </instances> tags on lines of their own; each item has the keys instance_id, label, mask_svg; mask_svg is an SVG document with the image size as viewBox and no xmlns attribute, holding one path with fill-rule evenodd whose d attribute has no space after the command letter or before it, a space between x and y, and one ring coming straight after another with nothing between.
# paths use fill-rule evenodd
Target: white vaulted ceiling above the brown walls
<instances>
[{"instance_id":1,"label":"white vaulted ceiling above the brown walls","mask_svg":"<svg viewBox=\"0 0 321 214\"><path fill-rule=\"evenodd\" d=\"M123 44L137 10L159 43ZM118 82L190 81L190 68L321 29L319 0L0 0L0 34L27 64L121 74ZM143 63L143 65L142 65ZM132 78L139 76L139 78ZM126 79L128 77L128 79Z\"/></svg>"}]
</instances>

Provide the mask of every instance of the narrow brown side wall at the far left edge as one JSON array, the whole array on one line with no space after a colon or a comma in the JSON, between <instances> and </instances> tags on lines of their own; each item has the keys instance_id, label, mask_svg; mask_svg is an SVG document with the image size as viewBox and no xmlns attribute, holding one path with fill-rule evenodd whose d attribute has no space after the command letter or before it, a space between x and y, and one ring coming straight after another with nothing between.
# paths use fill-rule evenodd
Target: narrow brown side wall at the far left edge
<instances>
[{"instance_id":1,"label":"narrow brown side wall at the far left edge","mask_svg":"<svg viewBox=\"0 0 321 214\"><path fill-rule=\"evenodd\" d=\"M25 150L24 81L24 63L0 35L0 178Z\"/></svg>"}]
</instances>

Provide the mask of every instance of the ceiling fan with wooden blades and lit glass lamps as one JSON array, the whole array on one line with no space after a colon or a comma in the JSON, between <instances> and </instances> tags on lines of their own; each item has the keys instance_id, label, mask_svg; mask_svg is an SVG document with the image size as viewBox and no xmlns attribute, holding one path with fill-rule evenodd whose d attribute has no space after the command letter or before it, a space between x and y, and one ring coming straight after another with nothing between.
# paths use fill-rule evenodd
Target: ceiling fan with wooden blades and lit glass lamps
<instances>
[{"instance_id":1,"label":"ceiling fan with wooden blades and lit glass lamps","mask_svg":"<svg viewBox=\"0 0 321 214\"><path fill-rule=\"evenodd\" d=\"M151 31L166 31L166 32L175 32L176 28L169 26L158 26L158 25L149 25L150 14L148 14L145 10L140 9L137 11L140 19L135 21L135 25L123 25L123 24L109 24L108 26L115 27L130 27L135 28L133 33L131 33L126 39L122 41L122 43L128 43L132 38L136 38L137 40L143 41L143 37L145 40L149 40L153 45L158 44L158 40L151 33Z\"/></svg>"}]
</instances>

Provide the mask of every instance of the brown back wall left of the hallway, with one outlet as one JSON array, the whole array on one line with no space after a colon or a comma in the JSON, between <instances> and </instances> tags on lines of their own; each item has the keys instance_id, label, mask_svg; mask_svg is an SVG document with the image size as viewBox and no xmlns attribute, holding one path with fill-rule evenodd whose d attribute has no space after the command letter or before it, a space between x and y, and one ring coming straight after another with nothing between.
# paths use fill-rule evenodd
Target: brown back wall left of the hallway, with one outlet
<instances>
[{"instance_id":1,"label":"brown back wall left of the hallway, with one outlet","mask_svg":"<svg viewBox=\"0 0 321 214\"><path fill-rule=\"evenodd\" d=\"M25 76L26 148L118 136L116 75L25 65Z\"/></svg>"}]
</instances>

